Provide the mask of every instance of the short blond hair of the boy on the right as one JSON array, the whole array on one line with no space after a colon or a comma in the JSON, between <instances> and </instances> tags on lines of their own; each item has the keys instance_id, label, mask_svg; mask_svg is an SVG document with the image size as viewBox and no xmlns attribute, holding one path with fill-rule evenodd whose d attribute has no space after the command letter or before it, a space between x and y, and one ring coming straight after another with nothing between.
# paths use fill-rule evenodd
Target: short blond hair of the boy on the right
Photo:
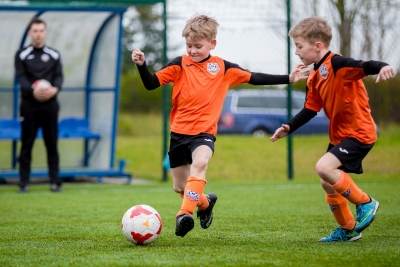
<instances>
[{"instance_id":1,"label":"short blond hair of the boy on the right","mask_svg":"<svg viewBox=\"0 0 400 267\"><path fill-rule=\"evenodd\" d=\"M329 46L332 40L332 28L321 17L309 17L293 26L289 31L289 36L302 37L309 42L322 41Z\"/></svg>"}]
</instances>

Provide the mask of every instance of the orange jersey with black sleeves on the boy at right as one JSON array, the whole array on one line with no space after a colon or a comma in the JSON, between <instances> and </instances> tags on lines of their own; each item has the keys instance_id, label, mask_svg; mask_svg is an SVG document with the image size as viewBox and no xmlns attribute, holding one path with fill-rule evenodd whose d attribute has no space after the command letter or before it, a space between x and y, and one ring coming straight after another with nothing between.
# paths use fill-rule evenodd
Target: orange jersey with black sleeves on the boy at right
<instances>
[{"instance_id":1,"label":"orange jersey with black sleeves on the boy at right","mask_svg":"<svg viewBox=\"0 0 400 267\"><path fill-rule=\"evenodd\" d=\"M331 144L345 138L361 143L376 141L376 126L371 116L368 94L362 78L378 74L386 63L361 61L328 52L307 79L304 109L288 122L290 132L314 117L321 108L329 118Z\"/></svg>"}]
</instances>

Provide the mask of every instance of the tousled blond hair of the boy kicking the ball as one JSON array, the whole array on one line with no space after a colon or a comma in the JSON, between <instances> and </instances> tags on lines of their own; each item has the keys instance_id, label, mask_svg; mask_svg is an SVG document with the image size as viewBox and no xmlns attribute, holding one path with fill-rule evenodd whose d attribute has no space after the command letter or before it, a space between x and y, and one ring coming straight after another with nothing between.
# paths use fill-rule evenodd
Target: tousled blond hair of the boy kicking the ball
<instances>
[{"instance_id":1,"label":"tousled blond hair of the boy kicking the ball","mask_svg":"<svg viewBox=\"0 0 400 267\"><path fill-rule=\"evenodd\" d=\"M194 16L186 22L182 36L193 40L215 40L218 26L214 18L206 15Z\"/></svg>"}]
</instances>

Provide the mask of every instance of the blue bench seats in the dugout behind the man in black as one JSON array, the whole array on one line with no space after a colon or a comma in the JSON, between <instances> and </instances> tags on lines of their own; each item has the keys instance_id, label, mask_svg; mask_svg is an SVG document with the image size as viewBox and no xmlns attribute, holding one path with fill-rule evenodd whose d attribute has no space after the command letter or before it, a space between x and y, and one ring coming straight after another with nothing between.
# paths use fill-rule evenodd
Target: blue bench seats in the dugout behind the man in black
<instances>
[{"instance_id":1,"label":"blue bench seats in the dugout behind the man in black","mask_svg":"<svg viewBox=\"0 0 400 267\"><path fill-rule=\"evenodd\" d=\"M58 124L58 136L61 139L100 139L100 134L89 129L89 123L80 118L64 118ZM41 130L38 137L42 137ZM21 125L18 120L0 119L0 140L21 139Z\"/></svg>"}]
</instances>

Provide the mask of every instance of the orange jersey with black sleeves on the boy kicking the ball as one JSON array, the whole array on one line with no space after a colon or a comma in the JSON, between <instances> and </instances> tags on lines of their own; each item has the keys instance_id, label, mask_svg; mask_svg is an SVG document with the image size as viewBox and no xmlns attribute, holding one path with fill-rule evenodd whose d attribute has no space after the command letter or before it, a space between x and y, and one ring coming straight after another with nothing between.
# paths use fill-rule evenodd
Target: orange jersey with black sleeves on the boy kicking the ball
<instances>
[{"instance_id":1,"label":"orange jersey with black sleeves on the boy kicking the ball","mask_svg":"<svg viewBox=\"0 0 400 267\"><path fill-rule=\"evenodd\" d=\"M241 83L289 83L288 75L250 72L216 56L201 62L195 62L189 56L177 57L155 74L150 73L145 64L138 69L149 90L173 84L171 131L186 135L216 135L217 122L230 87Z\"/></svg>"}]
</instances>

